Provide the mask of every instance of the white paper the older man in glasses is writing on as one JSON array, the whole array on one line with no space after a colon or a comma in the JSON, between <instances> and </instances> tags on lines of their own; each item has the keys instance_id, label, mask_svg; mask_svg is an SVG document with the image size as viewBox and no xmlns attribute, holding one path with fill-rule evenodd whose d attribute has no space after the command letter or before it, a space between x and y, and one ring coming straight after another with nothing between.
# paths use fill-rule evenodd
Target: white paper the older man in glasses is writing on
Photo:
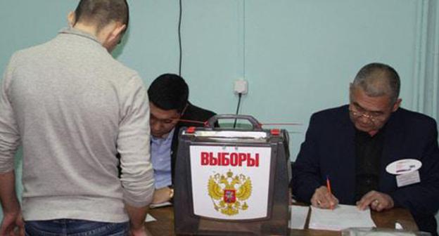
<instances>
[{"instance_id":1,"label":"white paper the older man in glasses is writing on","mask_svg":"<svg viewBox=\"0 0 439 236\"><path fill-rule=\"evenodd\" d=\"M343 204L333 210L311 206L309 228L340 231L352 227L376 227L370 209L360 211L357 206Z\"/></svg>"}]
</instances>

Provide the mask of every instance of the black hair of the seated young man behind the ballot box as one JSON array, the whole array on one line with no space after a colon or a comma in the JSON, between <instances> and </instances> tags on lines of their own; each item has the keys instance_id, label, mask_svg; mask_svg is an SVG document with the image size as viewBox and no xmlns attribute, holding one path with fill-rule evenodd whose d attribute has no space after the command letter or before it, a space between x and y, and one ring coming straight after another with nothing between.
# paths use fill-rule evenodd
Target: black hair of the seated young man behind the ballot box
<instances>
[{"instance_id":1,"label":"black hair of the seated young man behind the ballot box","mask_svg":"<svg viewBox=\"0 0 439 236\"><path fill-rule=\"evenodd\" d=\"M189 98L189 87L177 74L162 74L149 86L149 101L162 110L181 113Z\"/></svg>"}]
</instances>

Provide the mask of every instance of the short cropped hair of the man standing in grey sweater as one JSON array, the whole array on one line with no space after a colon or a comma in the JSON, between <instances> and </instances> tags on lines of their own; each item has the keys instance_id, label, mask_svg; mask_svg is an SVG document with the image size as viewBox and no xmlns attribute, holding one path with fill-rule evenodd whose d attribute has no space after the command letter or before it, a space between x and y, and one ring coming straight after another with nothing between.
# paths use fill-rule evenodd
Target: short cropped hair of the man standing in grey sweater
<instances>
[{"instance_id":1,"label":"short cropped hair of the man standing in grey sweater","mask_svg":"<svg viewBox=\"0 0 439 236\"><path fill-rule=\"evenodd\" d=\"M76 22L95 24L98 32L112 21L128 27L129 7L127 0L81 0L75 18Z\"/></svg>"}]
</instances>

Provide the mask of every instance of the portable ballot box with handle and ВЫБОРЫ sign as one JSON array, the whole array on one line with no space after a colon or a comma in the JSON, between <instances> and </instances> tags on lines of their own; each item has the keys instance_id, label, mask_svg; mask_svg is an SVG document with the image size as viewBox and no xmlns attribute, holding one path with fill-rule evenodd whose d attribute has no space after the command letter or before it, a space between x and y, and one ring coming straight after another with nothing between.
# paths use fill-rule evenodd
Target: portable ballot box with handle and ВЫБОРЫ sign
<instances>
[{"instance_id":1,"label":"portable ballot box with handle and \u0412\u042b\u0411\u041e\u0420\u042b sign","mask_svg":"<svg viewBox=\"0 0 439 236\"><path fill-rule=\"evenodd\" d=\"M220 119L246 119L246 130ZM251 116L217 115L179 132L174 176L177 235L287 235L288 133Z\"/></svg>"}]
</instances>

